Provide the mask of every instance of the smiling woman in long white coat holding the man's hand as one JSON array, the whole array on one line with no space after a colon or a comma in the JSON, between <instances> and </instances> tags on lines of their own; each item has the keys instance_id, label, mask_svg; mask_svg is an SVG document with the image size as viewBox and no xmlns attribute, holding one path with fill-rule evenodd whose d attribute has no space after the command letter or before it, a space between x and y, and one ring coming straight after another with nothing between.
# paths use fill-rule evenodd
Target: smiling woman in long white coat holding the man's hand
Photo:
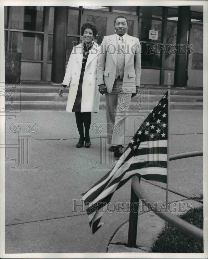
<instances>
[{"instance_id":1,"label":"smiling woman in long white coat holding the man's hand","mask_svg":"<svg viewBox=\"0 0 208 259\"><path fill-rule=\"evenodd\" d=\"M99 92L96 84L99 46L93 42L97 35L96 25L84 23L81 35L84 42L72 49L59 95L62 97L65 87L70 84L66 111L75 112L80 135L76 147L83 147L85 143L85 147L89 148L91 112L99 112Z\"/></svg>"}]
</instances>

